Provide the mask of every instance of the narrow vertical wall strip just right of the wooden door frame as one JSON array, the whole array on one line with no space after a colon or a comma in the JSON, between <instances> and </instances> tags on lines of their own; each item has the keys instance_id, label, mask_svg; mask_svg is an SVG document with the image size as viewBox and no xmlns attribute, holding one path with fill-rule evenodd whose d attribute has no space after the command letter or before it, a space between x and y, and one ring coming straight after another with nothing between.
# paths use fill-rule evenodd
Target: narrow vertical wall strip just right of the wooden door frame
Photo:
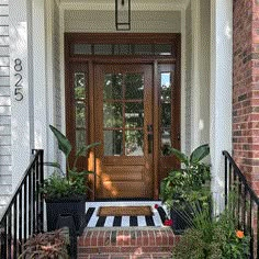
<instances>
[{"instance_id":1,"label":"narrow vertical wall strip just right of the wooden door frame","mask_svg":"<svg viewBox=\"0 0 259 259\"><path fill-rule=\"evenodd\" d=\"M192 92L192 9L185 11L185 153L191 151L191 92Z\"/></svg>"}]
</instances>

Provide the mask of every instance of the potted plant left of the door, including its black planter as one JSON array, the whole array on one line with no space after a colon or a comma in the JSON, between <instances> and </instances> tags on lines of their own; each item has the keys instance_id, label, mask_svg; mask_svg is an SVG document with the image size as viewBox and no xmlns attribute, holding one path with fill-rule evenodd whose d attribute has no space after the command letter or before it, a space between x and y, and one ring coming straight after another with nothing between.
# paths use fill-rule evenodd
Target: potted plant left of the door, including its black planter
<instances>
[{"instance_id":1,"label":"potted plant left of the door, including its black planter","mask_svg":"<svg viewBox=\"0 0 259 259\"><path fill-rule=\"evenodd\" d=\"M66 157L67 172L63 173L60 165L57 162L46 162L47 166L57 168L44 181L44 187L42 188L46 201L47 230L56 229L58 217L69 214L74 218L77 233L80 234L79 232L83 230L81 226L83 225L86 213L87 191L90 189L88 187L88 174L94 172L88 170L78 171L77 160L80 156L86 155L90 148L99 145L99 143L81 146L76 153L74 164L70 165L69 156L72 150L70 142L56 127L52 125L49 127L58 142L59 150Z\"/></svg>"}]
</instances>

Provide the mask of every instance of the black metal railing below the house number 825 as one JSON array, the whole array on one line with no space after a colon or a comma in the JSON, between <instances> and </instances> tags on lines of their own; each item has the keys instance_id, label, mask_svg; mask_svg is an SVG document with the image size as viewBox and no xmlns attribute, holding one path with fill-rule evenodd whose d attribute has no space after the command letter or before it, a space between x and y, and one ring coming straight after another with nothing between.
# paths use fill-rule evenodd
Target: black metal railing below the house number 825
<instances>
[{"instance_id":1,"label":"black metal railing below the house number 825","mask_svg":"<svg viewBox=\"0 0 259 259\"><path fill-rule=\"evenodd\" d=\"M0 221L1 259L18 258L26 239L44 230L44 200L40 192L44 181L43 150L33 150L33 155Z\"/></svg>"}]
</instances>

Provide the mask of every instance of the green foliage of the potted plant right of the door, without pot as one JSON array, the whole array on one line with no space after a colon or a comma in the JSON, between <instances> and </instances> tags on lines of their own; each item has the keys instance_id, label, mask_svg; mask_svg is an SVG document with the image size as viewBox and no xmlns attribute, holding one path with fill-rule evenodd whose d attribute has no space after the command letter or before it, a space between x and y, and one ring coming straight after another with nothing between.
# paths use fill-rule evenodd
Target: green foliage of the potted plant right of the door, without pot
<instances>
[{"instance_id":1,"label":"green foliage of the potted plant right of the door, without pot","mask_svg":"<svg viewBox=\"0 0 259 259\"><path fill-rule=\"evenodd\" d=\"M202 159L210 154L209 145L199 146L190 157L178 149L170 150L183 164L183 168L171 170L161 181L162 202L168 207L181 207L183 203L194 201L199 201L204 206L209 205L211 200L210 166L202 162Z\"/></svg>"}]
</instances>

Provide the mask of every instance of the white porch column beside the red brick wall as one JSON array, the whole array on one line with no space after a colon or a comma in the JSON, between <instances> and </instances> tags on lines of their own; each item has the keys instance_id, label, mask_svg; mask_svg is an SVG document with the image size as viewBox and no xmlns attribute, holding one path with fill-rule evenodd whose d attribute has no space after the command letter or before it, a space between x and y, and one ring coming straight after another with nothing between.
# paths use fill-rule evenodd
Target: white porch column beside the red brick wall
<instances>
[{"instance_id":1,"label":"white porch column beside the red brick wall","mask_svg":"<svg viewBox=\"0 0 259 259\"><path fill-rule=\"evenodd\" d=\"M232 151L233 0L211 1L211 161L215 212L224 207L224 149Z\"/></svg>"}]
</instances>

